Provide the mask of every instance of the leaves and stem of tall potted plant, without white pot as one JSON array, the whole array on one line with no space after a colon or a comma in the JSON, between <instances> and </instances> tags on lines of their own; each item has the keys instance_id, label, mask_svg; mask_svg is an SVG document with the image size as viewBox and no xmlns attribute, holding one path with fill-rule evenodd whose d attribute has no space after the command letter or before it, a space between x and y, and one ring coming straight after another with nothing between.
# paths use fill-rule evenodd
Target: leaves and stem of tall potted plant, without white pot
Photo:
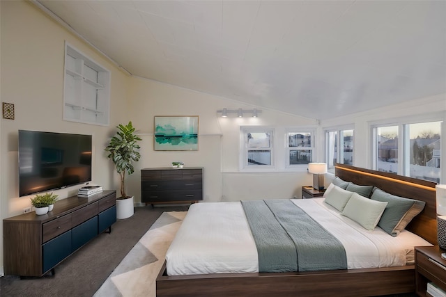
<instances>
[{"instance_id":1,"label":"leaves and stem of tall potted plant, without white pot","mask_svg":"<svg viewBox=\"0 0 446 297\"><path fill-rule=\"evenodd\" d=\"M110 143L105 147L105 150L109 152L107 157L112 159L116 171L121 176L121 196L122 198L128 198L129 196L125 194L125 172L131 175L134 172L132 162L139 161L139 158L141 158L141 154L138 152L140 147L137 144L137 141L141 141L141 138L134 134L135 129L132 122L128 122L128 125L120 124L116 128L118 128L118 131L110 139Z\"/></svg>"}]
</instances>

